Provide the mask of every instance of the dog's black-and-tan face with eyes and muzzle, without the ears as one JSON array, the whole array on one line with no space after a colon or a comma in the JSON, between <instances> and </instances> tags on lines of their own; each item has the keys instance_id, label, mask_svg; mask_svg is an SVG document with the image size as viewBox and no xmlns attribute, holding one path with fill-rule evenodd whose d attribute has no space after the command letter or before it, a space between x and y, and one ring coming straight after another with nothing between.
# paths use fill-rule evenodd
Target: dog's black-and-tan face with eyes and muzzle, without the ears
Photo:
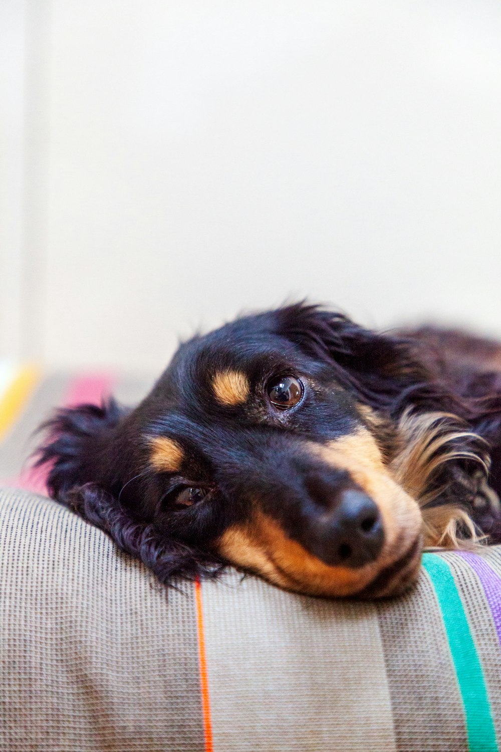
<instances>
[{"instance_id":1,"label":"dog's black-and-tan face with eyes and muzzle, without the ears","mask_svg":"<svg viewBox=\"0 0 501 752\"><path fill-rule=\"evenodd\" d=\"M140 490L164 538L326 596L393 593L415 575L417 503L355 395L273 317L180 347L130 425L129 477L145 475L127 498Z\"/></svg>"}]
</instances>

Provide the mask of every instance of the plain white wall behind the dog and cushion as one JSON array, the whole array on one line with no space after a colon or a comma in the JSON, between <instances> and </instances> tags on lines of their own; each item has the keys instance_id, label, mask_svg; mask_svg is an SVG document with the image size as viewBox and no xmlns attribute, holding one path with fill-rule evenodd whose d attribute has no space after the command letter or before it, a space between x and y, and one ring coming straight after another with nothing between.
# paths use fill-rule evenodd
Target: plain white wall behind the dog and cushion
<instances>
[{"instance_id":1,"label":"plain white wall behind the dog and cushion","mask_svg":"<svg viewBox=\"0 0 501 752\"><path fill-rule=\"evenodd\" d=\"M501 335L498 0L2 0L0 356L286 298Z\"/></svg>"}]
</instances>

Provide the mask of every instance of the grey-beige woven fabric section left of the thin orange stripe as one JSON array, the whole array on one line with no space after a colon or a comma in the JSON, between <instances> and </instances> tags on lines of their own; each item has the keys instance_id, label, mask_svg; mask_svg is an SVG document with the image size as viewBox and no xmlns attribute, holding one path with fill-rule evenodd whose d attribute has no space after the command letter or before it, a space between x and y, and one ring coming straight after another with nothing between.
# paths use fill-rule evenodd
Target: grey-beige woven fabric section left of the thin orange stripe
<instances>
[{"instance_id":1,"label":"grey-beige woven fabric section left of the thin orange stripe","mask_svg":"<svg viewBox=\"0 0 501 752\"><path fill-rule=\"evenodd\" d=\"M0 750L204 748L192 586L42 497L0 503Z\"/></svg>"}]
</instances>

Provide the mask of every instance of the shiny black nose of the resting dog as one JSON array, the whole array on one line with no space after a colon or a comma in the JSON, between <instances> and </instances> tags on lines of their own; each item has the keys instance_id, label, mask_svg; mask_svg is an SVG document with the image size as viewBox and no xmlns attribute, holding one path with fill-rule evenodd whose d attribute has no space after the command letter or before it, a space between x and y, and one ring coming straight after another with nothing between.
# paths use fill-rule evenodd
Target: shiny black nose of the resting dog
<instances>
[{"instance_id":1,"label":"shiny black nose of the resting dog","mask_svg":"<svg viewBox=\"0 0 501 752\"><path fill-rule=\"evenodd\" d=\"M308 548L318 559L349 567L375 561L385 539L379 509L357 489L343 490L336 507L312 523L311 535Z\"/></svg>"}]
</instances>

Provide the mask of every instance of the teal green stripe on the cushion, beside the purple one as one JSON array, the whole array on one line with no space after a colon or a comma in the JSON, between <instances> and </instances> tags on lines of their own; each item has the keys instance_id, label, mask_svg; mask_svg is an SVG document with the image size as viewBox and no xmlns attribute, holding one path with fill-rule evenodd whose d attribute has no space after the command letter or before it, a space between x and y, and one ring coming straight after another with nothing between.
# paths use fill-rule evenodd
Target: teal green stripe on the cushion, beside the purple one
<instances>
[{"instance_id":1,"label":"teal green stripe on the cushion, beside the purple one","mask_svg":"<svg viewBox=\"0 0 501 752\"><path fill-rule=\"evenodd\" d=\"M496 729L490 712L484 673L454 576L445 559L436 553L424 553L423 566L430 575L442 611L463 698L469 752L497 752Z\"/></svg>"}]
</instances>

